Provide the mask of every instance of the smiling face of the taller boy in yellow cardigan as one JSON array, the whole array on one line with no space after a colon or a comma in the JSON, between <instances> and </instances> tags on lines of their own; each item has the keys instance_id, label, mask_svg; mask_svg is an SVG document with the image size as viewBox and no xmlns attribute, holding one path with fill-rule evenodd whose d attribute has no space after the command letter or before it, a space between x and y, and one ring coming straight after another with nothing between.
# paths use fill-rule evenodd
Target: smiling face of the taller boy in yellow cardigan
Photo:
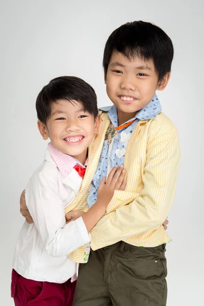
<instances>
[{"instance_id":1,"label":"smiling face of the taller boy in yellow cardigan","mask_svg":"<svg viewBox=\"0 0 204 306\"><path fill-rule=\"evenodd\" d=\"M129 60L121 53L113 52L105 83L107 94L118 109L118 124L133 118L150 102L156 90L166 87L169 78L170 73L167 73L158 83L152 60L143 61L139 57Z\"/></svg>"}]
</instances>

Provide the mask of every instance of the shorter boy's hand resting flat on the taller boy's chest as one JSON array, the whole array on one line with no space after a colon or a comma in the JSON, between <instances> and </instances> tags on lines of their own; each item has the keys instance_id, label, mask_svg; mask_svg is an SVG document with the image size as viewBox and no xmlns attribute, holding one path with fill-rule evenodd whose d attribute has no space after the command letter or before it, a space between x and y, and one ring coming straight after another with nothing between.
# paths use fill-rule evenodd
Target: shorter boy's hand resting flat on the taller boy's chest
<instances>
[{"instance_id":1,"label":"shorter boy's hand resting flat on the taller boy's chest","mask_svg":"<svg viewBox=\"0 0 204 306\"><path fill-rule=\"evenodd\" d=\"M97 202L102 203L106 208L111 201L115 190L124 190L126 180L124 180L125 170L123 165L119 168L115 166L109 173L107 179L103 177L100 181L97 194Z\"/></svg>"}]
</instances>

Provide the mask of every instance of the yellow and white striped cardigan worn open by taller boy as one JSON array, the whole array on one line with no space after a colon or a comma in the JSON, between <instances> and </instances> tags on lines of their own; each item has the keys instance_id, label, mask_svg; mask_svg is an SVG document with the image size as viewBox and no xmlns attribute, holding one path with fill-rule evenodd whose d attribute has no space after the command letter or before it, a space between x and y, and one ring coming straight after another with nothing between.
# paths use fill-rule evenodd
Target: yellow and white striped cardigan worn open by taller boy
<instances>
[{"instance_id":1,"label":"yellow and white striped cardigan worn open by taller boy","mask_svg":"<svg viewBox=\"0 0 204 306\"><path fill-rule=\"evenodd\" d=\"M100 115L99 134L89 148L89 163L82 188L65 213L88 210L88 189L110 124L106 112L100 112ZM173 201L179 166L179 137L170 119L160 113L155 119L140 120L125 153L126 188L114 192L106 215L91 231L91 248L96 250L120 240L147 247L168 242L170 238L162 223ZM83 263L84 250L83 246L69 257Z\"/></svg>"}]
</instances>

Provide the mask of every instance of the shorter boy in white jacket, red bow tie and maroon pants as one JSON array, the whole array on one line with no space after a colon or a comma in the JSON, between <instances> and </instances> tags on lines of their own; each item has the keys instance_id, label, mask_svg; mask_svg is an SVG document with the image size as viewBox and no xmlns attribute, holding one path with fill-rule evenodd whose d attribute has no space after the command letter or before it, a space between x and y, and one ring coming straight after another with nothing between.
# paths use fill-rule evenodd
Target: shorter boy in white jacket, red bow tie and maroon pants
<instances>
[{"instance_id":1,"label":"shorter boy in white jacket, red bow tie and maroon pants","mask_svg":"<svg viewBox=\"0 0 204 306\"><path fill-rule=\"evenodd\" d=\"M16 306L67 306L77 263L66 254L90 242L89 232L105 215L114 190L124 190L125 171L114 167L107 182L101 180L96 205L66 222L64 210L81 189L88 146L99 131L96 95L79 78L59 77L43 87L36 110L40 134L51 142L25 190L34 224L25 222L18 237L11 295Z\"/></svg>"}]
</instances>

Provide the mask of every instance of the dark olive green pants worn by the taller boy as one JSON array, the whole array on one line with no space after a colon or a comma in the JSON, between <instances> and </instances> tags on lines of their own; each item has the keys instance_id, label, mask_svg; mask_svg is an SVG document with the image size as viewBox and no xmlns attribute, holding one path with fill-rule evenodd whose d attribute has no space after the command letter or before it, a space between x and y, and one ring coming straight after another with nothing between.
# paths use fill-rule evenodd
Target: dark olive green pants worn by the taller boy
<instances>
[{"instance_id":1,"label":"dark olive green pants worn by the taller boy","mask_svg":"<svg viewBox=\"0 0 204 306\"><path fill-rule=\"evenodd\" d=\"M165 244L137 247L123 241L92 251L81 264L73 306L165 306Z\"/></svg>"}]
</instances>

